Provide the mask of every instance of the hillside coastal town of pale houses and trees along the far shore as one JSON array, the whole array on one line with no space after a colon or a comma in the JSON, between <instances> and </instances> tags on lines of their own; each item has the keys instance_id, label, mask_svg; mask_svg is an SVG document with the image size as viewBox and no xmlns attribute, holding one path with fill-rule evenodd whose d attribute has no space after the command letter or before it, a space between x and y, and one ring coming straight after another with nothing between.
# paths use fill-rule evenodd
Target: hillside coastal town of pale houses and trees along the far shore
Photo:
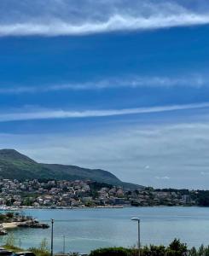
<instances>
[{"instance_id":1,"label":"hillside coastal town of pale houses and trees along the far shore","mask_svg":"<svg viewBox=\"0 0 209 256\"><path fill-rule=\"evenodd\" d=\"M90 180L0 180L1 209L72 207L150 207L200 205L202 191L189 189L123 189Z\"/></svg>"}]
</instances>

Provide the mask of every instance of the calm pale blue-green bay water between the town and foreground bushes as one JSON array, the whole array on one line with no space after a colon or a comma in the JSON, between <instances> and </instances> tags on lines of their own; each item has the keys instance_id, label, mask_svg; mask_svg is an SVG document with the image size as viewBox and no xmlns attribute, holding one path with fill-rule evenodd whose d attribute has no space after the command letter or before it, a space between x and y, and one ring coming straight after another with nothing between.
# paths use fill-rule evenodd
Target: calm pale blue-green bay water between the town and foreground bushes
<instances>
[{"instance_id":1,"label":"calm pale blue-green bay water between the town and foreground bushes","mask_svg":"<svg viewBox=\"0 0 209 256\"><path fill-rule=\"evenodd\" d=\"M167 245L177 237L190 246L209 244L209 208L140 207L123 209L26 210L45 223L55 218L55 252L62 251L63 235L66 252L88 253L97 247L136 244L137 227L131 217L140 217L142 245ZM38 247L50 230L13 230L17 245ZM3 241L1 237L1 241ZM20 241L19 241L20 240Z\"/></svg>"}]
</instances>

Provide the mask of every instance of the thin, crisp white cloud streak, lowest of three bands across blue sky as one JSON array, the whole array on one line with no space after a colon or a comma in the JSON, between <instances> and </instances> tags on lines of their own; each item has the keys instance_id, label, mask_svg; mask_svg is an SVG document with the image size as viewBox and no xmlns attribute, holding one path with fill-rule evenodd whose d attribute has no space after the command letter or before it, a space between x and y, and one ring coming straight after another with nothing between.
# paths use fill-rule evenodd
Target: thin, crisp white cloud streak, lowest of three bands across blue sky
<instances>
[{"instance_id":1,"label":"thin, crisp white cloud streak, lowest of three bands across blue sky","mask_svg":"<svg viewBox=\"0 0 209 256\"><path fill-rule=\"evenodd\" d=\"M194 103L184 105L157 106L150 108L123 108L123 109L102 109L102 110L43 110L36 112L0 113L0 122L32 120L32 119L82 119L108 117L117 115L140 114L140 113L161 113L168 111L187 110L195 108L209 108L209 103Z\"/></svg>"}]
</instances>

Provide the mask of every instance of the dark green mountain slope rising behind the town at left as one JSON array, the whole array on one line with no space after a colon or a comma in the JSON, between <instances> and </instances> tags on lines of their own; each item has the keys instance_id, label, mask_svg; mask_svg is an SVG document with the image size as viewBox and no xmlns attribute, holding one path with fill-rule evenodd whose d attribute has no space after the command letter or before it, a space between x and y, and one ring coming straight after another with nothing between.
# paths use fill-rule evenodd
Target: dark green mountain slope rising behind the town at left
<instances>
[{"instance_id":1,"label":"dark green mountain slope rising behind the town at left","mask_svg":"<svg viewBox=\"0 0 209 256\"><path fill-rule=\"evenodd\" d=\"M120 185L125 189L141 189L142 186L124 183L113 173L101 169L38 163L15 149L0 150L0 177L10 179L90 179L98 183Z\"/></svg>"}]
</instances>

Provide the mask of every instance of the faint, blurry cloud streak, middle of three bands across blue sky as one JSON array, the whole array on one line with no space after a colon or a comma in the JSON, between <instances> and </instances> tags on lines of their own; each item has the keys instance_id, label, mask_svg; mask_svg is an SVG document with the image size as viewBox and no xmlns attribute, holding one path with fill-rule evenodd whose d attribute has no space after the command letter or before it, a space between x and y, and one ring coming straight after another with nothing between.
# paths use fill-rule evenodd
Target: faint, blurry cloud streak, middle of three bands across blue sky
<instances>
[{"instance_id":1,"label":"faint, blurry cloud streak, middle of three bands across blue sky","mask_svg":"<svg viewBox=\"0 0 209 256\"><path fill-rule=\"evenodd\" d=\"M163 76L127 76L123 78L101 79L84 83L65 84L43 84L27 86L7 86L0 88L0 94L21 94L21 93L45 93L61 90L104 90L113 88L138 88L138 87L173 87L191 86L200 88L207 86L209 78L203 75L188 74L183 77L163 77Z\"/></svg>"}]
</instances>

